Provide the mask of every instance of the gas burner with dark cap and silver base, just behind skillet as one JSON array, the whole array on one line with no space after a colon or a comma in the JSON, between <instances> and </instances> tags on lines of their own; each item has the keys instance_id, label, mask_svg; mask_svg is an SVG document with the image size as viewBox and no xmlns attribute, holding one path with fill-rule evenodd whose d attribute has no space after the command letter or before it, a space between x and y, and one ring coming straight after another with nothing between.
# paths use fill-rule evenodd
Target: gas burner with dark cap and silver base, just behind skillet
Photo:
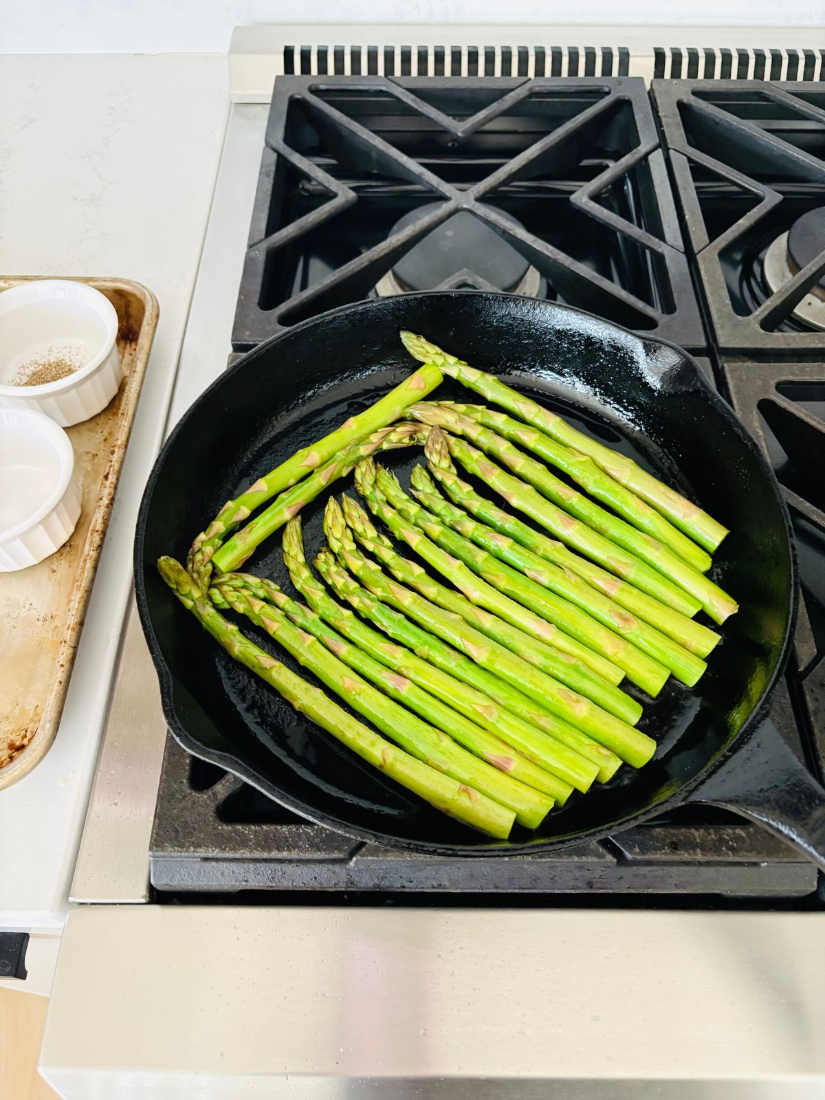
<instances>
[{"instance_id":1,"label":"gas burner with dark cap and silver base, just behind skillet","mask_svg":"<svg viewBox=\"0 0 825 1100\"><path fill-rule=\"evenodd\" d=\"M391 237L417 224L440 205L429 202L410 210L393 226ZM513 215L501 215L524 230ZM541 289L541 276L492 226L461 210L405 253L378 279L375 293L389 297L447 287L507 290L535 298Z\"/></svg>"}]
</instances>

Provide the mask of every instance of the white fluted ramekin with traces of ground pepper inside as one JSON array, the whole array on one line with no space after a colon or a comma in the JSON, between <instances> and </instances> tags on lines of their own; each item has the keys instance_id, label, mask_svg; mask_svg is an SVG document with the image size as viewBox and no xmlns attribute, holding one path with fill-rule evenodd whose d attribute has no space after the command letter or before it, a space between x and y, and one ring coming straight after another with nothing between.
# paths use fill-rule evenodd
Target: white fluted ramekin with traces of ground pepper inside
<instances>
[{"instance_id":1,"label":"white fluted ramekin with traces of ground pepper inside","mask_svg":"<svg viewBox=\"0 0 825 1100\"><path fill-rule=\"evenodd\" d=\"M0 405L38 409L68 428L88 420L118 392L123 367L117 348L118 315L106 295L86 283L33 279L0 294ZM84 365L40 386L14 386L25 363L62 348Z\"/></svg>"}]
</instances>

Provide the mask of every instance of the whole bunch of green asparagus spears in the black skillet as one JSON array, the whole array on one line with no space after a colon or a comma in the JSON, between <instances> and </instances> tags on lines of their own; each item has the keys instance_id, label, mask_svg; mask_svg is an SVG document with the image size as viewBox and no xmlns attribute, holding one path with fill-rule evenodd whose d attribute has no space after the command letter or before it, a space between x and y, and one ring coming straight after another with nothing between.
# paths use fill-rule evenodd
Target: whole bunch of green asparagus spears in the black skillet
<instances>
[{"instance_id":1,"label":"whole bunch of green asparagus spears in the black skillet","mask_svg":"<svg viewBox=\"0 0 825 1100\"><path fill-rule=\"evenodd\" d=\"M623 762L653 756L656 743L635 728L642 706L619 684L627 676L654 696L671 674L688 686L703 675L719 636L694 616L722 624L737 609L705 575L727 530L494 375L422 337L402 340L417 371L228 502L195 539L187 570L170 558L158 569L205 629L296 710L437 809L505 839ZM443 374L499 409L422 400ZM374 457L411 446L426 468L414 469L410 495ZM369 510L329 498L319 581L297 513L353 470ZM306 603L234 572L280 527ZM277 661L272 642L380 733Z\"/></svg>"}]
</instances>

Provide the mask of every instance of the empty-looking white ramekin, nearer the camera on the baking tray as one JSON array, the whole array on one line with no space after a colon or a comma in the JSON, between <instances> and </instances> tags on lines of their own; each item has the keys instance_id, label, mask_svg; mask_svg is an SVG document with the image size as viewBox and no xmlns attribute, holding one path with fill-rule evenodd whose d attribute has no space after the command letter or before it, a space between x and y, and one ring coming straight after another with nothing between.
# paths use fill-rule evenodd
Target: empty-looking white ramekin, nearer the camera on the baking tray
<instances>
[{"instance_id":1,"label":"empty-looking white ramekin, nearer the camera on the baking tray","mask_svg":"<svg viewBox=\"0 0 825 1100\"><path fill-rule=\"evenodd\" d=\"M0 573L59 550L79 515L66 432L34 409L0 408Z\"/></svg>"}]
</instances>

